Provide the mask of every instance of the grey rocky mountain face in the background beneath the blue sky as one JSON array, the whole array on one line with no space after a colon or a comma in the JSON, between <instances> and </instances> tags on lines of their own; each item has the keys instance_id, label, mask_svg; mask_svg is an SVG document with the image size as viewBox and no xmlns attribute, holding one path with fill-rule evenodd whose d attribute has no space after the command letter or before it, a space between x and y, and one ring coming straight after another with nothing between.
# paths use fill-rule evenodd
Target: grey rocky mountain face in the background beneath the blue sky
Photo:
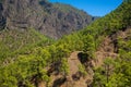
<instances>
[{"instance_id":1,"label":"grey rocky mountain face in the background beneath the blue sky","mask_svg":"<svg viewBox=\"0 0 131 87\"><path fill-rule=\"evenodd\" d=\"M0 29L35 28L57 39L93 21L91 15L67 4L46 0L0 0Z\"/></svg>"}]
</instances>

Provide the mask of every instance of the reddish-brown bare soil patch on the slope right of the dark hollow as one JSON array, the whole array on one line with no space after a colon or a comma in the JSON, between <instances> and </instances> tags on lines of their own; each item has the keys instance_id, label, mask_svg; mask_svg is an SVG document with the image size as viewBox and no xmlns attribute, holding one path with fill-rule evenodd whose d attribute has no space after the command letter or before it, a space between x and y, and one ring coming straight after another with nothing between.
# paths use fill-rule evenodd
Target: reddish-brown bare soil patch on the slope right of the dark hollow
<instances>
[{"instance_id":1,"label":"reddish-brown bare soil patch on the slope right of the dark hollow","mask_svg":"<svg viewBox=\"0 0 131 87\"><path fill-rule=\"evenodd\" d=\"M116 58L118 54L115 52L114 40L110 37L105 37L95 54L96 59L92 60L95 67L100 66L106 58Z\"/></svg>"}]
</instances>

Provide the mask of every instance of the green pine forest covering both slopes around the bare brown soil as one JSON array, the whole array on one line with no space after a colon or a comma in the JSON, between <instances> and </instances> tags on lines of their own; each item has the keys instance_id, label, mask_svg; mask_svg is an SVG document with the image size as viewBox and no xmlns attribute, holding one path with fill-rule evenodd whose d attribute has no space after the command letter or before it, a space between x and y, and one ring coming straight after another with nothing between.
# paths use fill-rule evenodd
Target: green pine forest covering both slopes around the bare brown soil
<instances>
[{"instance_id":1,"label":"green pine forest covering both slopes around the bare brown soil","mask_svg":"<svg viewBox=\"0 0 131 87\"><path fill-rule=\"evenodd\" d=\"M57 41L34 29L3 29L0 32L0 87L37 87L40 82L48 87L51 80L48 67L67 75L71 52L83 51L86 54L83 59L95 60L104 38L129 26L131 1L124 0L111 13ZM131 87L131 34L128 35L117 39L116 59L107 58L103 66L93 69L93 87Z\"/></svg>"}]
</instances>

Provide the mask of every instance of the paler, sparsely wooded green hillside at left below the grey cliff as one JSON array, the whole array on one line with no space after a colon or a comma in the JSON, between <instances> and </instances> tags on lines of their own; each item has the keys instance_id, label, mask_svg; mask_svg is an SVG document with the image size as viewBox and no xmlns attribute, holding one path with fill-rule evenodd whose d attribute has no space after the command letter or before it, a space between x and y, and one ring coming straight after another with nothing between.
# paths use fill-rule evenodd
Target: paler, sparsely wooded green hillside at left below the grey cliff
<instances>
[{"instance_id":1,"label":"paler, sparsely wooded green hillside at left below the grey cliff","mask_svg":"<svg viewBox=\"0 0 131 87\"><path fill-rule=\"evenodd\" d=\"M3 29L0 32L0 64L10 57L29 53L36 46L47 46L51 39L35 29Z\"/></svg>"}]
</instances>

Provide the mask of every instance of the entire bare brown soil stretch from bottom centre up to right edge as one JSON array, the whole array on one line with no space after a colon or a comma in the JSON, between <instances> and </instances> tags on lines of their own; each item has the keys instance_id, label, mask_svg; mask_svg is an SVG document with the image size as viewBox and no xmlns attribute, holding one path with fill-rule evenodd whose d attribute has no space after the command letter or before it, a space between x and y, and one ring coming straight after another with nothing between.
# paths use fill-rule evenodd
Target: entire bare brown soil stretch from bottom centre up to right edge
<instances>
[{"instance_id":1,"label":"entire bare brown soil stretch from bottom centre up to right edge","mask_svg":"<svg viewBox=\"0 0 131 87\"><path fill-rule=\"evenodd\" d=\"M126 30L119 30L118 33L116 33L111 36L105 37L104 41L102 42L102 45L99 46L99 48L95 52L96 59L91 60L87 63L88 65L86 69L90 72L88 72L88 75L86 77L81 76L78 79L73 78L74 75L78 76L79 65L81 64L78 55L81 51L72 52L70 58L68 59L70 73L69 73L69 76L67 76L66 82L62 83L60 86L50 86L50 87L87 87L87 85L92 83L93 75L94 75L92 67L102 66L104 63L104 60L106 58L111 58L111 59L117 58L118 57L118 53L117 53L118 48L116 47L117 46L116 41L119 37L127 38L128 37L127 35L131 35L131 28L128 28ZM52 83L56 79L59 79L62 77L63 77L62 75L51 76ZM46 86L39 86L39 87L46 87Z\"/></svg>"}]
</instances>

